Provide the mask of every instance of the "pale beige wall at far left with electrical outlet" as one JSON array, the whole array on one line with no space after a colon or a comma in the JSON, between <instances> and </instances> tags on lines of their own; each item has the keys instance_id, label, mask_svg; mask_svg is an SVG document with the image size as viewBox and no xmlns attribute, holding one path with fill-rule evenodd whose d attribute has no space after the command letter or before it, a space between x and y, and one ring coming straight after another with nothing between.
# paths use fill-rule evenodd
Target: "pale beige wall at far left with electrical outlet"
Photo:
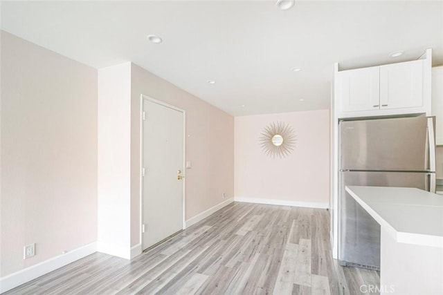
<instances>
[{"instance_id":1,"label":"pale beige wall at far left with electrical outlet","mask_svg":"<svg viewBox=\"0 0 443 295\"><path fill-rule=\"evenodd\" d=\"M96 240L97 70L1 32L1 276Z\"/></svg>"}]
</instances>

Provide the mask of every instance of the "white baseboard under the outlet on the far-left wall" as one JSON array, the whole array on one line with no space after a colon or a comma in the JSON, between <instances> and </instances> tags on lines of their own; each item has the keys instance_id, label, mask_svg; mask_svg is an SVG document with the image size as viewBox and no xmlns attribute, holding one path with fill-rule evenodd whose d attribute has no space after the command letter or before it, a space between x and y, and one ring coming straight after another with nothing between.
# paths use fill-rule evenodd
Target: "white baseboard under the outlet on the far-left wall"
<instances>
[{"instance_id":1,"label":"white baseboard under the outlet on the far-left wall","mask_svg":"<svg viewBox=\"0 0 443 295\"><path fill-rule=\"evenodd\" d=\"M97 243L91 242L91 244L84 245L83 247L69 251L66 254L55 256L54 258L42 261L36 265L26 267L26 269L21 269L18 272L4 276L3 278L0 278L0 293L18 287L19 285L27 283L39 276L43 276L44 274L48 274L48 272L52 272L55 269L69 265L69 263L73 263L75 260L79 260L80 258L93 254L96 251Z\"/></svg>"}]
</instances>

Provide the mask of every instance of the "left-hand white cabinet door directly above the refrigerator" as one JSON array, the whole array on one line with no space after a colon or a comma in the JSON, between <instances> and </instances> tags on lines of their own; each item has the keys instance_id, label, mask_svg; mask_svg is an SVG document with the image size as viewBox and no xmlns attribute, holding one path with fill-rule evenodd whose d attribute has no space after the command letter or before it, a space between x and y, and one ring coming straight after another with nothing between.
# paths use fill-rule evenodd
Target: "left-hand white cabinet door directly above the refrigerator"
<instances>
[{"instance_id":1,"label":"left-hand white cabinet door directly above the refrigerator","mask_svg":"<svg viewBox=\"0 0 443 295\"><path fill-rule=\"evenodd\" d=\"M379 109L379 67L339 72L341 111Z\"/></svg>"}]
</instances>

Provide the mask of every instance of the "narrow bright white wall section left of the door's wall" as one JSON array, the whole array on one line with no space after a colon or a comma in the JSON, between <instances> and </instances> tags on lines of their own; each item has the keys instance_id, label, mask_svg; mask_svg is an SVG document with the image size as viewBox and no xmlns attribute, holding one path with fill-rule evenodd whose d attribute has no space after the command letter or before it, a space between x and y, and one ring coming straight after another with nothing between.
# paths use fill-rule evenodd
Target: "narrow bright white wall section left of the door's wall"
<instances>
[{"instance_id":1,"label":"narrow bright white wall section left of the door's wall","mask_svg":"<svg viewBox=\"0 0 443 295\"><path fill-rule=\"evenodd\" d=\"M98 241L130 258L131 63L98 70Z\"/></svg>"}]
</instances>

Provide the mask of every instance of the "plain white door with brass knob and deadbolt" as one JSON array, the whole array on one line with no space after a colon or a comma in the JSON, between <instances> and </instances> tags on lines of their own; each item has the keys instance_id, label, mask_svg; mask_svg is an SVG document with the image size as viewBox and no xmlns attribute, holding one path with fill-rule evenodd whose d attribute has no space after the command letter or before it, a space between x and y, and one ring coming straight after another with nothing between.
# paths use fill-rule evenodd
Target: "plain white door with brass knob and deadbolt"
<instances>
[{"instance_id":1,"label":"plain white door with brass knob and deadbolt","mask_svg":"<svg viewBox=\"0 0 443 295\"><path fill-rule=\"evenodd\" d=\"M184 111L143 98L143 249L183 229Z\"/></svg>"}]
</instances>

